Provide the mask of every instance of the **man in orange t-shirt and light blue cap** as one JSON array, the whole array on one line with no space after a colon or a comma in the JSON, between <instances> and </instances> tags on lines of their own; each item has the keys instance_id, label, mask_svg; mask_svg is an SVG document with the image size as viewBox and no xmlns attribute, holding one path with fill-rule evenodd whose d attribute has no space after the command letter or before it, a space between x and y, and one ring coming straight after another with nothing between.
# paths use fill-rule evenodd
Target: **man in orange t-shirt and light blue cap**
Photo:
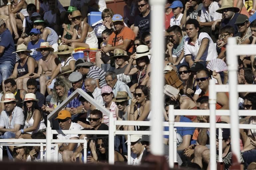
<instances>
[{"instance_id":1,"label":"man in orange t-shirt and light blue cap","mask_svg":"<svg viewBox=\"0 0 256 170\"><path fill-rule=\"evenodd\" d=\"M112 22L116 31L110 35L108 44L106 47L102 47L102 51L107 53L114 51L116 48L121 48L130 55L133 50L135 34L130 28L124 26L124 20L121 15L115 14L112 17Z\"/></svg>"}]
</instances>

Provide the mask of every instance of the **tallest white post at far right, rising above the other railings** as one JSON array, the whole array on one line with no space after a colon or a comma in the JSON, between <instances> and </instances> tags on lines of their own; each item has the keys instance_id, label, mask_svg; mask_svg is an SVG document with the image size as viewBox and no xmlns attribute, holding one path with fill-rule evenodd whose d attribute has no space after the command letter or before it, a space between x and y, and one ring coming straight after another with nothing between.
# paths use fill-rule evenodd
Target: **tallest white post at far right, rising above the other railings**
<instances>
[{"instance_id":1,"label":"tallest white post at far right, rising above the other railings","mask_svg":"<svg viewBox=\"0 0 256 170\"><path fill-rule=\"evenodd\" d=\"M227 64L228 64L228 80L229 80L229 111L231 122L231 139L232 154L235 154L238 162L240 162L240 148L239 148L239 128L238 128L238 94L237 94L237 54L234 53L233 48L236 48L236 39L229 38L227 44Z\"/></svg>"}]
</instances>

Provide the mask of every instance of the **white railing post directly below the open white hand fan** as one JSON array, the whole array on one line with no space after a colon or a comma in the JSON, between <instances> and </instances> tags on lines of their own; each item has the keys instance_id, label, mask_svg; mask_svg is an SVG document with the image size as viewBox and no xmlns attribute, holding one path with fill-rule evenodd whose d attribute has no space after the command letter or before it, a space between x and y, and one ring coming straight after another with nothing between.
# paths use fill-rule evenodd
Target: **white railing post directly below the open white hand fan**
<instances>
[{"instance_id":1,"label":"white railing post directly below the open white hand fan","mask_svg":"<svg viewBox=\"0 0 256 170\"><path fill-rule=\"evenodd\" d=\"M214 80L209 81L209 105L210 105L210 165L211 170L216 170L216 92Z\"/></svg>"}]
</instances>

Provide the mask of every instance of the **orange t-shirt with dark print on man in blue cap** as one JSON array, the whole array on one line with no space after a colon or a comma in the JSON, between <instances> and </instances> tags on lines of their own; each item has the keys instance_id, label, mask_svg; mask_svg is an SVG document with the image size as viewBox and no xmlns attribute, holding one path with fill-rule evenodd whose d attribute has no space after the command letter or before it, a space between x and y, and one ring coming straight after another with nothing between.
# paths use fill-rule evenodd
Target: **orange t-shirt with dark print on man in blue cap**
<instances>
[{"instance_id":1,"label":"orange t-shirt with dark print on man in blue cap","mask_svg":"<svg viewBox=\"0 0 256 170\"><path fill-rule=\"evenodd\" d=\"M133 40L135 39L135 34L133 33L133 31L130 28L124 27L124 29L121 31L121 33L119 33L117 35L116 45L115 45L115 37L116 37L116 33L113 32L110 35L108 44L111 44L112 46L117 46L117 45L122 45L124 43L124 40L131 40L131 43L129 44L126 51L132 52L132 50L133 50Z\"/></svg>"}]
</instances>

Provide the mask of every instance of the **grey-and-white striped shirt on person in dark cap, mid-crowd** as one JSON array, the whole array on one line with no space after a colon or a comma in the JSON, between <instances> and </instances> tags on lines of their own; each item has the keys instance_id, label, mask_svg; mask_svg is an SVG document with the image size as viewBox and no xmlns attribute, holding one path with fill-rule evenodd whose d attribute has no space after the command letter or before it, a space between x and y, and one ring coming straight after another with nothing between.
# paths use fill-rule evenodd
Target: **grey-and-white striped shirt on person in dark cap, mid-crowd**
<instances>
[{"instance_id":1,"label":"grey-and-white striped shirt on person in dark cap, mid-crowd","mask_svg":"<svg viewBox=\"0 0 256 170\"><path fill-rule=\"evenodd\" d=\"M105 81L105 74L106 72L103 69L94 65L89 68L87 77L93 78L95 80L100 79L100 87L102 88L103 86L107 86L107 83Z\"/></svg>"}]
</instances>

